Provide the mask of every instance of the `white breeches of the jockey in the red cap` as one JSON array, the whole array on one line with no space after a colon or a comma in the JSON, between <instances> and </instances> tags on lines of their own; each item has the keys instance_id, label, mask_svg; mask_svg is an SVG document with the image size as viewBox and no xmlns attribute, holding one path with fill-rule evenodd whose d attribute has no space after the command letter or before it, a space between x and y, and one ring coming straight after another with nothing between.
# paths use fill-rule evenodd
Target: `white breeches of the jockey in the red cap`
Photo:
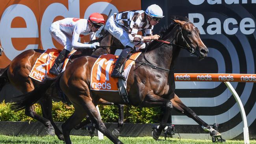
<instances>
[{"instance_id":1,"label":"white breeches of the jockey in the red cap","mask_svg":"<svg viewBox=\"0 0 256 144\"><path fill-rule=\"evenodd\" d=\"M65 35L61 30L59 30L59 22L52 23L49 28L49 32L56 41L64 46L64 49L71 52L72 36Z\"/></svg>"}]
</instances>

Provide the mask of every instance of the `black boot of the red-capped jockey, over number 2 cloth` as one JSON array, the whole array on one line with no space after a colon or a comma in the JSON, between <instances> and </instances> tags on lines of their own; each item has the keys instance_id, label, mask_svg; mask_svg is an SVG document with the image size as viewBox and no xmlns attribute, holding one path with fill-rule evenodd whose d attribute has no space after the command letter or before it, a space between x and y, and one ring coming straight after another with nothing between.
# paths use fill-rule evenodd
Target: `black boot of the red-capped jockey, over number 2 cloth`
<instances>
[{"instance_id":1,"label":"black boot of the red-capped jockey, over number 2 cloth","mask_svg":"<svg viewBox=\"0 0 256 144\"><path fill-rule=\"evenodd\" d=\"M49 70L49 72L51 74L59 75L61 73L61 72L59 72L58 67L64 61L64 59L67 57L67 55L69 55L69 53L70 52L68 50L66 50L66 49L63 49L59 53L58 57L56 58L53 66L52 66L52 68Z\"/></svg>"}]
</instances>

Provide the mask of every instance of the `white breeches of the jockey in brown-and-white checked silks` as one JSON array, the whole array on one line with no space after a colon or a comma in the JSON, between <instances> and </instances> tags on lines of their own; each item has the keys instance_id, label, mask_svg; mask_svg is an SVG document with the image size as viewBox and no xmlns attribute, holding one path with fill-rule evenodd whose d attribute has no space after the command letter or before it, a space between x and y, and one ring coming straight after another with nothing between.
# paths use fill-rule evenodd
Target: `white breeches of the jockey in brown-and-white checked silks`
<instances>
[{"instance_id":1,"label":"white breeches of the jockey in brown-and-white checked silks","mask_svg":"<svg viewBox=\"0 0 256 144\"><path fill-rule=\"evenodd\" d=\"M119 24L115 23L113 15L108 18L105 28L124 46L130 46L132 48L134 48L135 46L137 51L142 48L145 48L146 46L145 42L130 42L128 33L121 26L119 26Z\"/></svg>"}]
</instances>

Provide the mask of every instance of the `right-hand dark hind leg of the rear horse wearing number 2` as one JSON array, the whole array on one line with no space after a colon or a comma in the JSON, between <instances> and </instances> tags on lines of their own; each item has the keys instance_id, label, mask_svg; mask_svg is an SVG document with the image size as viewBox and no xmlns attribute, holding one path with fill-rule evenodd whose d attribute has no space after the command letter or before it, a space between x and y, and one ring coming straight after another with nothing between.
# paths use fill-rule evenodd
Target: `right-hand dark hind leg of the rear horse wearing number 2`
<instances>
[{"instance_id":1,"label":"right-hand dark hind leg of the rear horse wearing number 2","mask_svg":"<svg viewBox=\"0 0 256 144\"><path fill-rule=\"evenodd\" d=\"M50 98L50 96L45 94L45 96L43 96L39 100L39 103L41 105L43 117L50 120L50 123L52 124L52 126L50 125L48 126L48 129L46 132L52 136L54 136L54 132L55 132L59 140L64 140L62 132L59 130L59 128L56 126L56 124L52 119L52 98Z\"/></svg>"}]
</instances>

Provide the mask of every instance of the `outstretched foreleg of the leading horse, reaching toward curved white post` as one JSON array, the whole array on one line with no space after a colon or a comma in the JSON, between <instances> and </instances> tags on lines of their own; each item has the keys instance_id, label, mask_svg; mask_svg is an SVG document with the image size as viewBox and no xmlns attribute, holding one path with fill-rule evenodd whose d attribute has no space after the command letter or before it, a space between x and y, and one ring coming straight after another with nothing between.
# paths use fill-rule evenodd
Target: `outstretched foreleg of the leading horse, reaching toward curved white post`
<instances>
[{"instance_id":1,"label":"outstretched foreleg of the leading horse, reaching toward curved white post","mask_svg":"<svg viewBox=\"0 0 256 144\"><path fill-rule=\"evenodd\" d=\"M199 125L202 126L204 131L210 132L211 137L221 136L221 134L218 131L210 127L209 124L207 124L201 118L199 118L197 114L194 111L192 111L192 109L184 105L184 103L181 102L180 98L176 94L174 95L174 98L171 100L171 102L173 103L173 108L176 111L183 113L189 118L195 120Z\"/></svg>"}]
</instances>

